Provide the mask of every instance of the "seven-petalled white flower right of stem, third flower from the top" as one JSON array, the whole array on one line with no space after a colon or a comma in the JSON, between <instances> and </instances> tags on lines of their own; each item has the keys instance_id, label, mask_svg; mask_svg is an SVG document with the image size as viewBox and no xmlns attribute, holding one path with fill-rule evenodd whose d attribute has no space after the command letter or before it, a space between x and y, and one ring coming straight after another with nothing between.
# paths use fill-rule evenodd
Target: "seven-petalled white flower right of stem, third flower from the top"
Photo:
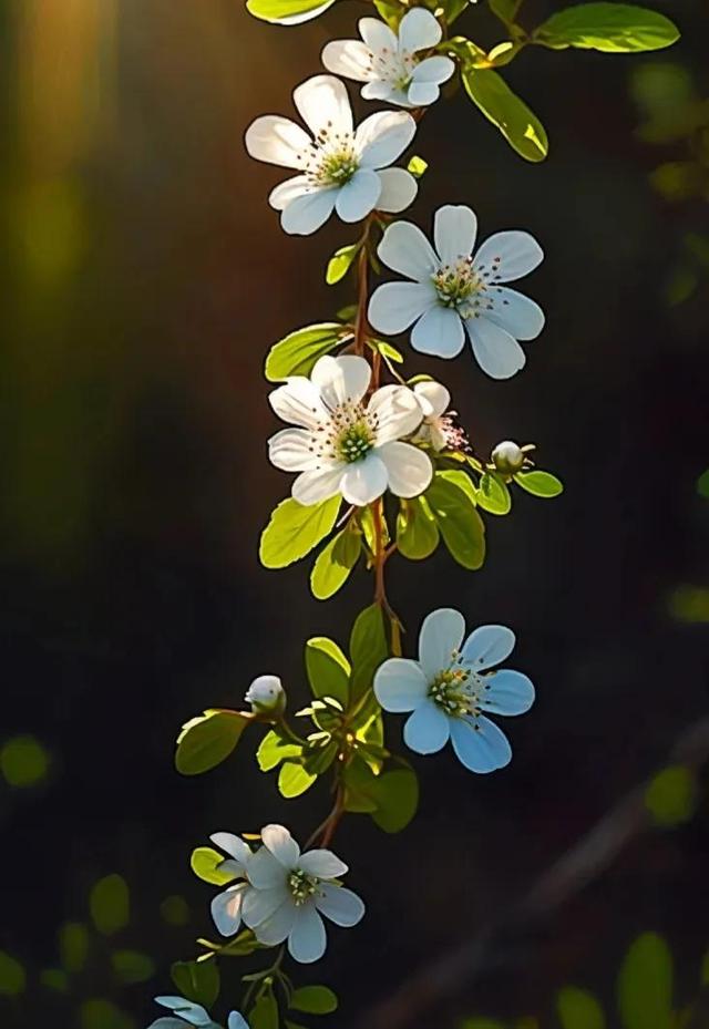
<instances>
[{"instance_id":1,"label":"seven-petalled white flower right of stem, third flower from the top","mask_svg":"<svg viewBox=\"0 0 709 1029\"><path fill-rule=\"evenodd\" d=\"M460 353L466 329L482 370L493 379L508 379L526 360L517 340L540 335L544 312L501 284L527 275L544 255L528 233L507 231L491 236L471 256L476 227L470 207L439 208L433 249L415 225L390 225L379 257L413 281L380 286L369 305L369 320L390 336L415 322L411 346L440 358Z\"/></svg>"}]
</instances>

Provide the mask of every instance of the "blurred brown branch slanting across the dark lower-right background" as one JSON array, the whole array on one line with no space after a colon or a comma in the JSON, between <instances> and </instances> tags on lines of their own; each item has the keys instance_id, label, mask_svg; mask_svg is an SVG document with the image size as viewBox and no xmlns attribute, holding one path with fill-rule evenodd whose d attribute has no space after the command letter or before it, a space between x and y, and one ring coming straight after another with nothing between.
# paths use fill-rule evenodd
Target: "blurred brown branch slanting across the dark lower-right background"
<instances>
[{"instance_id":1,"label":"blurred brown branch slanting across the dark lower-right background","mask_svg":"<svg viewBox=\"0 0 709 1029\"><path fill-rule=\"evenodd\" d=\"M670 763L681 763L697 773L709 761L709 719L686 730L676 741ZM440 954L417 969L388 1000L367 1009L356 1029L403 1029L421 1026L427 1009L454 996L465 984L470 989L484 971L495 940L505 934L524 935L548 918L597 879L623 851L653 826L645 802L647 781L630 790L582 836L552 867L532 884L530 891L496 917L482 925L474 936ZM497 958L499 955L495 955Z\"/></svg>"}]
</instances>

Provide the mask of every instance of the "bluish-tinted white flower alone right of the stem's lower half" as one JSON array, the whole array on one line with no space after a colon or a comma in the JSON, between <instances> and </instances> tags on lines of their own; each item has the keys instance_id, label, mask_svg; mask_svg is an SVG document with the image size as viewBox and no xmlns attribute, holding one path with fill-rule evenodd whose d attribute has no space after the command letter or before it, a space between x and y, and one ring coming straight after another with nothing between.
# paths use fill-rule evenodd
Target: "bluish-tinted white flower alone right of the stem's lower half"
<instances>
[{"instance_id":1,"label":"bluish-tinted white flower alone right of the stem's lower half","mask_svg":"<svg viewBox=\"0 0 709 1029\"><path fill-rule=\"evenodd\" d=\"M464 635L459 611L433 611L421 626L419 660L384 661L374 676L374 693L386 711L413 712L403 730L411 750L432 754L450 738L471 772L493 772L510 762L512 750L481 712L522 714L534 702L534 687L518 671L483 673L512 652L512 629L481 626L463 642Z\"/></svg>"}]
</instances>

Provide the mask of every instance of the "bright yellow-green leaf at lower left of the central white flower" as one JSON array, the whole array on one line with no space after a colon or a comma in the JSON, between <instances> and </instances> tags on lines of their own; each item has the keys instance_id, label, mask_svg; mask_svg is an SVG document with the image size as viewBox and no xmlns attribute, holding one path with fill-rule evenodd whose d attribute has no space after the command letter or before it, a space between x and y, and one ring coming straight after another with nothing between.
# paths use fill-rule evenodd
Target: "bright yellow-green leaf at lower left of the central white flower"
<instances>
[{"instance_id":1,"label":"bright yellow-green leaf at lower left of the central white flower","mask_svg":"<svg viewBox=\"0 0 709 1029\"><path fill-rule=\"evenodd\" d=\"M309 554L337 521L341 496L305 507L292 497L281 501L261 533L258 552L266 568L285 568Z\"/></svg>"}]
</instances>

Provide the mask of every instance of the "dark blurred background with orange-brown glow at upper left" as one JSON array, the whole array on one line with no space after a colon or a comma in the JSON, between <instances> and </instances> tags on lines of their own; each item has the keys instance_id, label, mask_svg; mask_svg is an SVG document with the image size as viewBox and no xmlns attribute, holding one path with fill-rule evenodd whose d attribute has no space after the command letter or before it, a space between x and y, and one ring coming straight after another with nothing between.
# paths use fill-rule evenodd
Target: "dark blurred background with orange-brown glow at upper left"
<instances>
[{"instance_id":1,"label":"dark blurred background with orange-brown glow at upper left","mask_svg":"<svg viewBox=\"0 0 709 1029\"><path fill-rule=\"evenodd\" d=\"M707 716L707 13L696 0L659 6L684 32L671 51L530 50L505 69L549 132L544 164L517 157L463 95L415 141L430 169L412 215L427 225L441 203L469 203L485 235L531 230L547 256L524 288L548 323L510 382L485 379L467 353L411 367L454 383L481 454L501 439L533 441L566 492L518 495L512 515L487 518L479 573L444 553L389 566L409 649L442 604L472 624L508 624L538 701L508 724L504 772L421 759L420 813L403 834L346 821L337 850L369 914L333 933L302 977L338 989L342 1027L523 895ZM552 9L528 0L523 21ZM363 573L323 605L305 563L276 573L257 562L288 485L266 462L276 425L264 357L350 302L350 287L327 287L321 269L353 236L332 224L284 237L266 206L278 172L242 146L258 113L290 111L321 45L351 35L360 13L347 0L285 30L239 0L2 8L8 1029L147 1025L171 961L212 932L192 847L261 820L307 835L327 804L318 790L284 801L248 737L204 778L181 779L172 759L181 722L236 704L257 673L281 675L299 706L304 640L345 644L369 603ZM482 3L460 28L483 45L502 38ZM693 171L658 176L668 162ZM689 999L709 944L708 844L700 794L691 820L636 840L544 932L461 975L407 1025L485 1013L555 1026L565 981L612 1011L618 963L645 929L667 937L678 998ZM65 926L91 926L90 892L107 875L129 886L130 920L116 936L92 929L72 965ZM117 975L116 948L150 956L154 975Z\"/></svg>"}]
</instances>

